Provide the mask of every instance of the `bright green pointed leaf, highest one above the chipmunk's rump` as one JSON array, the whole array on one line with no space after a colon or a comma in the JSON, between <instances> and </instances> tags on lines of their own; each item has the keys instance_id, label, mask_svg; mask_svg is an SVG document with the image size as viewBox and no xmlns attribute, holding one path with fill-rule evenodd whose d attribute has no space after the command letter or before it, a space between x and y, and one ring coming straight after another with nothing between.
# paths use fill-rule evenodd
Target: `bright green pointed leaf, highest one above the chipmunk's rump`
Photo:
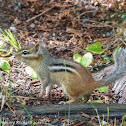
<instances>
[{"instance_id":1,"label":"bright green pointed leaf, highest one above the chipmunk's rump","mask_svg":"<svg viewBox=\"0 0 126 126\"><path fill-rule=\"evenodd\" d=\"M101 54L104 51L101 47L102 47L101 43L100 42L96 42L96 43L86 47L86 49L88 51L93 52L93 53Z\"/></svg>"}]
</instances>

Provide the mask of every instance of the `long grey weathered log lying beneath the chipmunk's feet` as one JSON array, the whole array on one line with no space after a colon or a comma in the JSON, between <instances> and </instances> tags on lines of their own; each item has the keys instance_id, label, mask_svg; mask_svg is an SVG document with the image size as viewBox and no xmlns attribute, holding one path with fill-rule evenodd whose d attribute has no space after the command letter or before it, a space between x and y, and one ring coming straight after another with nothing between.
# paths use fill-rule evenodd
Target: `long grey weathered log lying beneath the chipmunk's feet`
<instances>
[{"instance_id":1,"label":"long grey weathered log lying beneath the chipmunk's feet","mask_svg":"<svg viewBox=\"0 0 126 126\"><path fill-rule=\"evenodd\" d=\"M107 115L107 108L109 108L109 115L124 116L126 114L126 104L101 104L94 103L95 109L98 110L99 115ZM66 115L66 114L79 114L81 112L96 115L96 111L91 103L72 103L66 105L43 105L26 107L31 115ZM11 111L1 111L0 115L12 115ZM16 115L27 115L23 108L16 110Z\"/></svg>"}]
</instances>

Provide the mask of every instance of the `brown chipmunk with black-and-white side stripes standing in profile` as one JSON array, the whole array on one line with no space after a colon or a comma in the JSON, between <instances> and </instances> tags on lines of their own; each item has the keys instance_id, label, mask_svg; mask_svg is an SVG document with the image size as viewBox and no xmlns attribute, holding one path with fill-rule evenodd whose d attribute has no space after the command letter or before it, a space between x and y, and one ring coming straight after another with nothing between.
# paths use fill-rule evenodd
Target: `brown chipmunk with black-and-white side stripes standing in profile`
<instances>
[{"instance_id":1,"label":"brown chipmunk with black-and-white side stripes standing in profile","mask_svg":"<svg viewBox=\"0 0 126 126\"><path fill-rule=\"evenodd\" d=\"M115 52L113 72L100 81L95 81L90 71L81 64L52 57L40 44L23 47L16 52L15 57L29 65L37 73L42 83L39 96L43 95L45 89L46 96L49 96L52 85L58 84L63 87L64 92L71 98L64 103L75 102L80 97L84 97L84 102L87 102L93 90L110 85L126 74L125 49L119 49Z\"/></svg>"}]
</instances>

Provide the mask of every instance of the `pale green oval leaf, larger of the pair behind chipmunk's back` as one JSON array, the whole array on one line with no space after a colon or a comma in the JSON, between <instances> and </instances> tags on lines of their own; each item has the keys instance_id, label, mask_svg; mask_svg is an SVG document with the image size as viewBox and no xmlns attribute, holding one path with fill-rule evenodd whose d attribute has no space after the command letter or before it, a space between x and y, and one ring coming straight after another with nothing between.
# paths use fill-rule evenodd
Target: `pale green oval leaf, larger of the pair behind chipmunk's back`
<instances>
[{"instance_id":1,"label":"pale green oval leaf, larger of the pair behind chipmunk's back","mask_svg":"<svg viewBox=\"0 0 126 126\"><path fill-rule=\"evenodd\" d=\"M91 53L86 53L82 59L81 59L81 64L85 67L88 67L91 63L92 63L92 60L93 60L93 56Z\"/></svg>"}]
</instances>

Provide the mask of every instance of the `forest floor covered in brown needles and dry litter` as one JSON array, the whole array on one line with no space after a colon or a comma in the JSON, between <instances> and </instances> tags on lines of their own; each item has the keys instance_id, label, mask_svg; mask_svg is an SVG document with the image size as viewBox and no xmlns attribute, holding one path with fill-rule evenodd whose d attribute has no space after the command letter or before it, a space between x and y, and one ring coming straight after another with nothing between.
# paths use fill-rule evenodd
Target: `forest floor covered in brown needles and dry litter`
<instances>
[{"instance_id":1,"label":"forest floor covered in brown needles and dry litter","mask_svg":"<svg viewBox=\"0 0 126 126\"><path fill-rule=\"evenodd\" d=\"M73 55L84 55L88 45L100 42L104 52L93 54L94 60L90 66L102 65L112 61L103 56L112 58L118 46L125 47L126 10L125 3L110 0L1 0L0 1L0 28L11 29L21 46L36 44L43 41L51 55L57 58L73 59ZM15 30L16 29L16 30ZM12 111L12 115L0 114L0 123L5 126L31 125L29 116L16 115L17 108L23 108L17 98L27 107L42 105L57 105L68 97L62 88L54 86L50 98L39 98L40 82L28 76L26 65L13 58L8 59L11 66L10 76L2 71L0 78L2 85L12 85L13 99L6 101L3 110ZM35 82L36 81L36 82ZM33 83L34 82L34 83ZM95 90L90 100L102 100L106 104L119 104L120 98L114 94L112 86L108 86L107 93ZM106 95L107 94L107 95ZM125 102L121 102L122 104ZM65 110L64 110L65 111ZM106 110L107 111L107 110ZM97 116L78 113L78 118L68 115L31 115L35 125L54 126L99 126ZM88 116L88 117L87 117ZM83 118L87 117L87 119ZM110 118L106 125L121 125L124 117ZM104 121L105 122L105 121ZM31 122L30 122L31 123Z\"/></svg>"}]
</instances>

